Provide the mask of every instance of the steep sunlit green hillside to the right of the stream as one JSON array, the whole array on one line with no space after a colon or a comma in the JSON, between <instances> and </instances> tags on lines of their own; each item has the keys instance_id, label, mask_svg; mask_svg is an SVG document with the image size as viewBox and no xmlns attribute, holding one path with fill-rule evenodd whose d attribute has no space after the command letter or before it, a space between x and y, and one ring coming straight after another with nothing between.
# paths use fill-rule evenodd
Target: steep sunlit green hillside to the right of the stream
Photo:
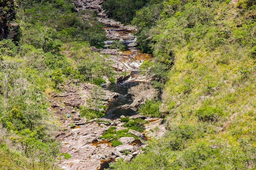
<instances>
[{"instance_id":1,"label":"steep sunlit green hillside to the right of the stream","mask_svg":"<svg viewBox=\"0 0 256 170\"><path fill-rule=\"evenodd\" d=\"M141 47L172 65L160 105L169 131L110 169L254 169L256 2L169 0L132 23Z\"/></svg>"}]
</instances>

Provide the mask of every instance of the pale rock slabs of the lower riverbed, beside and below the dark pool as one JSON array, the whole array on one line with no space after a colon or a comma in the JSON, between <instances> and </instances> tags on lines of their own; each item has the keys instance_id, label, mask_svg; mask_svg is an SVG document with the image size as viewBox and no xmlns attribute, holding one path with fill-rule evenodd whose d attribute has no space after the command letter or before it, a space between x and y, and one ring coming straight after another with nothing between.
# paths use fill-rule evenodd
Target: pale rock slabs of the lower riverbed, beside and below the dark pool
<instances>
[{"instance_id":1,"label":"pale rock slabs of the lower riverbed, beside and below the dark pool","mask_svg":"<svg viewBox=\"0 0 256 170\"><path fill-rule=\"evenodd\" d=\"M121 122L120 118L99 118L88 121L78 117L79 106L86 105L93 86L92 84L67 85L63 93L53 93L49 98L55 118L59 117L61 121L56 139L61 141L61 152L71 156L70 159L59 161L59 167L65 170L99 170L101 164L107 160L114 161L122 158L124 161L130 161L134 156L143 152L141 148L146 146L145 135L159 137L166 131L165 125L162 124L163 119L134 115L129 118L149 121L145 124L144 132L131 129L128 131L139 137L139 141L135 141L133 137L122 137L119 139L122 145L113 147L109 141L99 139L103 132L112 126L115 126L117 131L126 128L123 127L124 122ZM118 93L106 91L103 100L107 104L112 98L118 96ZM67 118L67 113L72 113L72 117ZM130 154L124 154L125 150L129 150Z\"/></svg>"}]
</instances>

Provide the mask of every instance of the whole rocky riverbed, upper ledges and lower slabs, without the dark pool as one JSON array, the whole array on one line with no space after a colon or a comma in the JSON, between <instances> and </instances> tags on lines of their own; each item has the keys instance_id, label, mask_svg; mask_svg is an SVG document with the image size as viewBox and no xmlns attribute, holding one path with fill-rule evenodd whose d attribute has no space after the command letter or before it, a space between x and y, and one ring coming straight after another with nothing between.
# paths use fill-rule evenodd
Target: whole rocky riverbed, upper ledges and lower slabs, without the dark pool
<instances>
[{"instance_id":1,"label":"whole rocky riverbed, upper ledges and lower slabs, without the dark pool","mask_svg":"<svg viewBox=\"0 0 256 170\"><path fill-rule=\"evenodd\" d=\"M98 14L99 22L102 22L107 27L106 31L106 48L114 41L120 40L129 50L121 52L116 49L96 49L92 47L92 51L100 51L103 54L109 54L109 60L113 61L112 67L117 73L126 72L129 75L118 74L117 82L124 80L145 81L145 77L137 76L139 66L144 60L152 60L152 55L141 53L137 50L137 37L133 34L138 30L134 26L125 26L120 22L107 18L105 11L102 10L101 4L103 0L74 0L76 10L91 9ZM149 123L145 124L144 132L129 130L131 134L138 137L121 137L118 139L122 144L116 147L111 145L110 141L100 139L101 135L108 128L115 126L116 130L127 129L124 127L124 122L120 118L117 119L92 119L87 120L79 117L79 107L81 105L89 106L88 99L92 95L92 84L76 84L63 86L63 93L52 93L49 98L52 111L55 113L55 119L59 119L61 127L56 134L56 139L61 141L61 152L68 153L70 159L62 159L59 161L59 167L65 170L100 170L106 162L123 159L130 161L136 155L141 154L142 147L146 146L148 137L160 137L166 131L163 119L145 117L141 115L133 115L129 117L141 118ZM104 90L102 102L108 106L111 99L119 97L118 93L113 93ZM66 115L71 113L71 117ZM124 117L124 116L123 116ZM147 137L146 137L147 136ZM129 154L124 153L129 151Z\"/></svg>"}]
</instances>

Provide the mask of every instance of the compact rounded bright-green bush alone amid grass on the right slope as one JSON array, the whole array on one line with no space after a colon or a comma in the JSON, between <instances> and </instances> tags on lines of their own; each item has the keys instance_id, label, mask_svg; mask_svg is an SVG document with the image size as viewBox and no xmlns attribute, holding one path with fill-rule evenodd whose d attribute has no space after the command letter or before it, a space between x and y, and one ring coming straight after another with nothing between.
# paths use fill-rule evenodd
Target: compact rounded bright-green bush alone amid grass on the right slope
<instances>
[{"instance_id":1,"label":"compact rounded bright-green bush alone amid grass on the right slope","mask_svg":"<svg viewBox=\"0 0 256 170\"><path fill-rule=\"evenodd\" d=\"M196 116L200 121L218 121L219 117L223 115L222 109L205 106L196 111Z\"/></svg>"}]
</instances>

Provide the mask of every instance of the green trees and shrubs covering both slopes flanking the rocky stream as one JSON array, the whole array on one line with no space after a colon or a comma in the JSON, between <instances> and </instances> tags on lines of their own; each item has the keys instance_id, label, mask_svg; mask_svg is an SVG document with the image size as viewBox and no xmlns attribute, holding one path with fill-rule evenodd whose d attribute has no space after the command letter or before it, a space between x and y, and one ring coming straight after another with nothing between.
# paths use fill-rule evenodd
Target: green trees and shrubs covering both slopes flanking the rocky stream
<instances>
[{"instance_id":1,"label":"green trees and shrubs covering both slopes flanking the rocky stream","mask_svg":"<svg viewBox=\"0 0 256 170\"><path fill-rule=\"evenodd\" d=\"M109 169L255 169L256 1L105 0L103 8L137 26L138 47L153 54L140 73L158 95L138 112L168 128ZM90 50L104 47L103 25L72 0L0 0L0 16L0 167L58 169L69 155L59 151L47 98L69 81L115 82L108 56Z\"/></svg>"}]
</instances>

